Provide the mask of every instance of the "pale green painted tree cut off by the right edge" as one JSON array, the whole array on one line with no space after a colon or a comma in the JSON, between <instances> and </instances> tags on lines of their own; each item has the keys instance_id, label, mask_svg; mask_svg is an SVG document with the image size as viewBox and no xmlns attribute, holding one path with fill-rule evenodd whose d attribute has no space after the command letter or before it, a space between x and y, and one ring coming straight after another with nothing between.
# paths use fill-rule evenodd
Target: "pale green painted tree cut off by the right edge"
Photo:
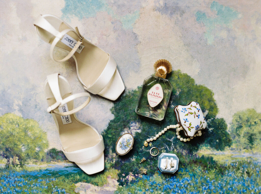
<instances>
[{"instance_id":1,"label":"pale green painted tree cut off by the right edge","mask_svg":"<svg viewBox=\"0 0 261 194\"><path fill-rule=\"evenodd\" d=\"M261 150L261 113L256 110L247 109L235 113L229 131L234 147Z\"/></svg>"}]
</instances>

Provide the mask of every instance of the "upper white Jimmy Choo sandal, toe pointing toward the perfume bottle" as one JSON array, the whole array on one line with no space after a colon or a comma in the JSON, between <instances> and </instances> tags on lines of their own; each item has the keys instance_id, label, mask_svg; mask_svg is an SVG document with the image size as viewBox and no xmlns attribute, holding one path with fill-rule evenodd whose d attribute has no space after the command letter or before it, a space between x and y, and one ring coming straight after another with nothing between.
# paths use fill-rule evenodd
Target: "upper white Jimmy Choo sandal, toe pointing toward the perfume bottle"
<instances>
[{"instance_id":1,"label":"upper white Jimmy Choo sandal, toe pointing toward the perfume bottle","mask_svg":"<svg viewBox=\"0 0 261 194\"><path fill-rule=\"evenodd\" d=\"M38 16L34 25L38 35L51 44L52 59L55 47L69 52L65 58L55 61L74 58L84 89L110 100L116 100L121 95L125 87L115 60L109 53L84 39L77 27L74 30L60 18L49 14Z\"/></svg>"}]
</instances>

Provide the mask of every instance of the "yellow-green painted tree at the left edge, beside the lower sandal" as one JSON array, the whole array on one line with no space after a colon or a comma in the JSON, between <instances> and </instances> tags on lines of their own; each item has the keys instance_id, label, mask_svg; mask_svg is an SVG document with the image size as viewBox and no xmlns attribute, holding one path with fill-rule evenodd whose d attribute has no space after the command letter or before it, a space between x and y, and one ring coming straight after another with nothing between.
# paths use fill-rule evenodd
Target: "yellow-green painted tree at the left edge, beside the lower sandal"
<instances>
[{"instance_id":1,"label":"yellow-green painted tree at the left edge, beside the lower sandal","mask_svg":"<svg viewBox=\"0 0 261 194\"><path fill-rule=\"evenodd\" d=\"M0 155L7 166L23 166L27 160L41 160L48 148L46 132L33 119L12 113L0 117Z\"/></svg>"}]
</instances>

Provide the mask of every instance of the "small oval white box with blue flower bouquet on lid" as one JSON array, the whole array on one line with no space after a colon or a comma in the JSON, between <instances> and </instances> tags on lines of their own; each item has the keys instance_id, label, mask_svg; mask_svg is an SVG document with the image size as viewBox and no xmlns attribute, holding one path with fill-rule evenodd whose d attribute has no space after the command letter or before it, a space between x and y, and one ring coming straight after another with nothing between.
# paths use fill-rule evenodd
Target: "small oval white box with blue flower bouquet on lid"
<instances>
[{"instance_id":1,"label":"small oval white box with blue flower bouquet on lid","mask_svg":"<svg viewBox=\"0 0 261 194\"><path fill-rule=\"evenodd\" d=\"M125 155L131 151L134 143L133 135L130 133L123 134L120 136L116 142L116 153L119 155Z\"/></svg>"}]
</instances>

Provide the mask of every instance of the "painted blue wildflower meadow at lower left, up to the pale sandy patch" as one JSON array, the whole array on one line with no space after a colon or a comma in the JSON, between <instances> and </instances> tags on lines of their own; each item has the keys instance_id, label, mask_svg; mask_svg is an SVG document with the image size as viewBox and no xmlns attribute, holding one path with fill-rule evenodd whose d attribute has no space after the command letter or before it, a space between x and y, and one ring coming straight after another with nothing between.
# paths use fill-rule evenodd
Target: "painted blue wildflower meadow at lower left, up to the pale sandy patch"
<instances>
[{"instance_id":1,"label":"painted blue wildflower meadow at lower left, up to the pale sandy patch","mask_svg":"<svg viewBox=\"0 0 261 194\"><path fill-rule=\"evenodd\" d=\"M117 173L115 169L107 169L103 173L87 175L72 163L49 164L45 169L35 170L0 169L0 193L75 193L76 183L103 186L108 176L117 179Z\"/></svg>"}]
</instances>

